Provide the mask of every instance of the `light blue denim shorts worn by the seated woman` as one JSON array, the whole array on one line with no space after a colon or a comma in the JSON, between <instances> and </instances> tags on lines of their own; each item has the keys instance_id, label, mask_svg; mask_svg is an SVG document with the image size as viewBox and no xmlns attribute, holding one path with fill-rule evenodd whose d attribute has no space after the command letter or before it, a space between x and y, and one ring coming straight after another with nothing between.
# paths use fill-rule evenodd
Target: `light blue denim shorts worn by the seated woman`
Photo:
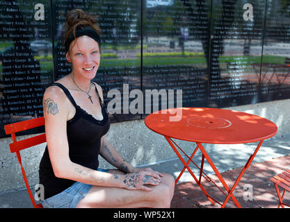
<instances>
[{"instance_id":1,"label":"light blue denim shorts worn by the seated woman","mask_svg":"<svg viewBox=\"0 0 290 222\"><path fill-rule=\"evenodd\" d=\"M108 172L108 169L97 169L98 171ZM74 182L72 186L65 189L59 194L51 196L45 200L41 200L41 204L45 208L75 208L79 201L84 198L92 185L82 182Z\"/></svg>"}]
</instances>

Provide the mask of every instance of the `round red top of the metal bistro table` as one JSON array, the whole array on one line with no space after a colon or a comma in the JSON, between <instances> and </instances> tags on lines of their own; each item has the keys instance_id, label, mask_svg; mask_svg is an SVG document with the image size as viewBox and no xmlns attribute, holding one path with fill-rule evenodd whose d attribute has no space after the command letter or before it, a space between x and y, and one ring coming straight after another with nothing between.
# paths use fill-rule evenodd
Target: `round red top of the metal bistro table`
<instances>
[{"instance_id":1,"label":"round red top of the metal bistro table","mask_svg":"<svg viewBox=\"0 0 290 222\"><path fill-rule=\"evenodd\" d=\"M268 119L217 108L160 110L148 115L145 125L167 137L207 144L258 142L277 133L277 126Z\"/></svg>"}]
</instances>

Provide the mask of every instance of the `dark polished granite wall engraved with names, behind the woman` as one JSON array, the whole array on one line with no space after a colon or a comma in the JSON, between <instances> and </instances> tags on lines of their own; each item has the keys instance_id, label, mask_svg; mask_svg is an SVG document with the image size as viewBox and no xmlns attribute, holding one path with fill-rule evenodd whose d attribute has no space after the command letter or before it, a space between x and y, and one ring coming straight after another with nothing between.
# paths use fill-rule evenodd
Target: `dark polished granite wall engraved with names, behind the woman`
<instances>
[{"instance_id":1,"label":"dark polished granite wall engraved with names, behind the woman","mask_svg":"<svg viewBox=\"0 0 290 222\"><path fill-rule=\"evenodd\" d=\"M0 137L4 125L42 116L45 87L70 73L62 31L72 8L99 15L94 80L105 102L120 108L112 122L144 118L145 92L153 89L159 109L177 105L178 89L184 107L290 98L289 1L0 1ZM164 106L161 92L169 98L170 89L175 100Z\"/></svg>"}]
</instances>

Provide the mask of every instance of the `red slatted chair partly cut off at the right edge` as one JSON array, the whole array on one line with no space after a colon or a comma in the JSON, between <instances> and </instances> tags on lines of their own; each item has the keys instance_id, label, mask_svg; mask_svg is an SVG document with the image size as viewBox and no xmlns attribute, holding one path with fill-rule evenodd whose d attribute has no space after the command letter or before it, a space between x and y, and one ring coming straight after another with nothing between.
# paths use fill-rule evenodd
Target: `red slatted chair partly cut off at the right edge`
<instances>
[{"instance_id":1,"label":"red slatted chair partly cut off at the right edge","mask_svg":"<svg viewBox=\"0 0 290 222\"><path fill-rule=\"evenodd\" d=\"M270 180L274 183L277 195L279 198L279 207L284 208L284 205L287 207L290 207L290 205L287 205L286 203L283 203L283 198L286 191L290 191L290 170L284 171L283 173L280 173L273 178L270 178ZM282 187L284 189L283 194L281 196L279 187Z\"/></svg>"}]
</instances>

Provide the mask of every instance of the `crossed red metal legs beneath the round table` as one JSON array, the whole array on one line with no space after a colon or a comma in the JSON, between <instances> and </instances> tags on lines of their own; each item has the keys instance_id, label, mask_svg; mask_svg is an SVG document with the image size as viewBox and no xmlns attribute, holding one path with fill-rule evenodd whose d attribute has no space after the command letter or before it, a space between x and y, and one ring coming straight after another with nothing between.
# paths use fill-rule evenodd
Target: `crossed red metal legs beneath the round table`
<instances>
[{"instance_id":1,"label":"crossed red metal legs beneath the round table","mask_svg":"<svg viewBox=\"0 0 290 222\"><path fill-rule=\"evenodd\" d=\"M234 189L236 188L236 186L238 185L239 181L241 180L243 173L245 173L245 170L248 169L248 167L250 167L250 164L252 163L252 160L254 160L255 155L257 154L257 152L259 151L259 148L261 147L261 144L264 142L264 140L261 140L257 146L257 148L255 149L254 153L252 153L252 155L250 155L248 161L245 163L245 166L243 167L243 169L241 170L241 173L239 174L238 178L236 179L236 182L234 182L234 185L232 186L231 189L229 189L229 187L227 186L227 183L225 182L225 180L223 179L223 177L220 175L218 169L216 169L216 166L214 165L214 162L211 161L211 158L209 157L209 155L207 154L207 151L205 151L204 147L202 146L201 143L199 142L195 142L195 144L197 144L195 150L193 151L193 153L191 154L191 156L189 157L188 155L186 155L186 153L182 150L182 148L180 148L170 137L166 137L164 136L168 142L168 144L170 144L171 148L173 149L173 151L175 151L175 153L177 154L177 156L179 157L179 160L182 161L182 163L184 164L184 168L182 169L181 173L179 173L179 176L177 177L177 179L175 180L175 185L177 184L179 178L182 176L182 174L184 173L184 171L187 169L189 173L191 173L191 176L193 176L193 179L195 180L195 182L198 184L198 186L200 187L200 189L202 189L203 193L205 196L207 196L207 198L209 199L209 201L211 202L212 205L216 203L218 203L219 205L221 205L221 208L224 208L225 205L227 204L228 200L231 200L236 207L241 208L241 205L239 204L239 201L236 200L236 197L234 196L233 192ZM188 158L188 161L186 162L184 160L184 158L182 157L182 155L179 153L179 151L177 151L177 148L179 148L180 151L182 151L182 153L184 153L184 155L186 155L186 157ZM197 164L195 164L195 162L193 162L193 157L195 155L195 153L198 151L198 149L202 152L202 161L201 161L201 166L198 167ZM211 178L209 178L209 176L207 176L206 173L204 173L203 171L203 166L204 166L204 158L207 160L207 162L209 163L209 165L211 166L211 169L214 170L214 173L216 173L216 176L218 177L218 179L220 180L220 182L222 183L223 187L225 188L225 190L227 191L227 193L225 193L222 189L220 189L220 187L218 187L218 185L216 185L216 183L211 180ZM196 167L198 167L198 169L200 169L200 176L199 178L197 178L195 176L195 174L193 173L193 171L191 171L191 169L188 167L189 163L193 163L195 164ZM209 194L207 193L207 191L204 189L204 187L202 186L202 182L201 182L201 178L205 178L205 180L207 180L208 182L212 182L214 183L214 185L221 191L223 192L223 194L225 194L226 198L224 200L223 203L218 202L218 200L212 198L211 196L209 196Z\"/></svg>"}]
</instances>

